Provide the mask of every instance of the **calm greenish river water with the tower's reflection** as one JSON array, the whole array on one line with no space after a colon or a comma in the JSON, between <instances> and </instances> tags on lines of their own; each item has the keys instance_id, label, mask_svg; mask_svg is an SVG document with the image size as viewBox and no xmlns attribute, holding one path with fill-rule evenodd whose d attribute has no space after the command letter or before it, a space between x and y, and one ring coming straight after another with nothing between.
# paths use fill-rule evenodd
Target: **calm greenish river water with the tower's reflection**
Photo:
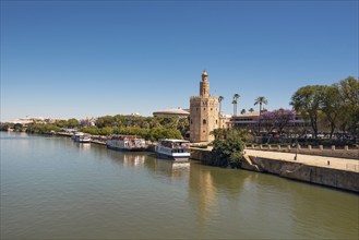
<instances>
[{"instance_id":1,"label":"calm greenish river water with the tower's reflection","mask_svg":"<svg viewBox=\"0 0 359 240\"><path fill-rule=\"evenodd\" d=\"M1 132L1 239L357 239L359 196Z\"/></svg>"}]
</instances>

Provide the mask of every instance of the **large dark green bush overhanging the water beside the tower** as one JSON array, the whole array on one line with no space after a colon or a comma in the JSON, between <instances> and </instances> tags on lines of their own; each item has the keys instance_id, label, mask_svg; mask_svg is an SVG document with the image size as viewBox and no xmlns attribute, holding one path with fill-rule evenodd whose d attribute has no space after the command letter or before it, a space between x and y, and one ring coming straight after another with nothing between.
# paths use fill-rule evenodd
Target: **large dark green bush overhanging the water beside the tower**
<instances>
[{"instance_id":1,"label":"large dark green bush overhanging the water beside the tower","mask_svg":"<svg viewBox=\"0 0 359 240\"><path fill-rule=\"evenodd\" d=\"M207 163L212 166L239 168L244 148L242 131L222 130L217 131L212 149L212 159Z\"/></svg>"}]
</instances>

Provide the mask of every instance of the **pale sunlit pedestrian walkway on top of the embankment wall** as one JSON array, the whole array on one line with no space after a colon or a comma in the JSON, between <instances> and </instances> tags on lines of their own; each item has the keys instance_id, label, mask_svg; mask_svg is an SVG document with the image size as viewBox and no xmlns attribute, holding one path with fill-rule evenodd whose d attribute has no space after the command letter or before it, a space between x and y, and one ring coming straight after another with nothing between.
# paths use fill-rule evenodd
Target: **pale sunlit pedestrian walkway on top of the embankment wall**
<instances>
[{"instance_id":1,"label":"pale sunlit pedestrian walkway on top of the embankment wall","mask_svg":"<svg viewBox=\"0 0 359 240\"><path fill-rule=\"evenodd\" d=\"M294 153L278 153L268 151L256 151L256 149L246 149L244 153L252 157L261 157L267 159L276 159L284 161L296 161L310 166L318 166L324 168L339 169L346 171L359 172L359 160L358 159L346 159L337 157L324 157L314 155L301 155Z\"/></svg>"}]
</instances>

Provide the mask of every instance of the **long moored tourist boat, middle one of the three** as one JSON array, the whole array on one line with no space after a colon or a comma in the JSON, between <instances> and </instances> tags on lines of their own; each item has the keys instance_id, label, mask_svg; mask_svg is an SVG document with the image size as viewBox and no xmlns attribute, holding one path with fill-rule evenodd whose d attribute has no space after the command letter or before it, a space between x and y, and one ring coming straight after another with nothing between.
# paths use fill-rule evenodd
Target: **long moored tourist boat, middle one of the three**
<instances>
[{"instance_id":1,"label":"long moored tourist boat, middle one of the three","mask_svg":"<svg viewBox=\"0 0 359 240\"><path fill-rule=\"evenodd\" d=\"M142 152L147 149L147 145L144 139L123 135L112 136L110 140L107 140L106 146L110 149L117 151Z\"/></svg>"}]
</instances>

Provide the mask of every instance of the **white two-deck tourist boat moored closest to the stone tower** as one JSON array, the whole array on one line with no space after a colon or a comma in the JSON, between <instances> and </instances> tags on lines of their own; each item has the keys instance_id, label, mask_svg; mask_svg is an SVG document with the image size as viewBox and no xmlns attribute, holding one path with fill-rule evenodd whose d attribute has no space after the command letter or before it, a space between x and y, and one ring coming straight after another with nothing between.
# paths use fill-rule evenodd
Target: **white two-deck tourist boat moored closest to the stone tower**
<instances>
[{"instance_id":1,"label":"white two-deck tourist boat moored closest to the stone tower","mask_svg":"<svg viewBox=\"0 0 359 240\"><path fill-rule=\"evenodd\" d=\"M155 152L159 157L188 161L191 156L189 143L186 140L159 140Z\"/></svg>"}]
</instances>

